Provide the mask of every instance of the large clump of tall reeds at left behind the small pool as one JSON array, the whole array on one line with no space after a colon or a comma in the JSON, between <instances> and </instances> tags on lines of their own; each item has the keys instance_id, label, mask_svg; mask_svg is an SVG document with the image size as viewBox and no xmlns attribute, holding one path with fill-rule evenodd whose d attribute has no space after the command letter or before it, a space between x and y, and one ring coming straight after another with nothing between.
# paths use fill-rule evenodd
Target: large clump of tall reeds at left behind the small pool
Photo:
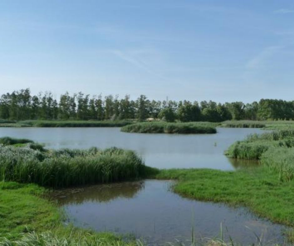
<instances>
[{"instance_id":1,"label":"large clump of tall reeds at left behind the small pool","mask_svg":"<svg viewBox=\"0 0 294 246\"><path fill-rule=\"evenodd\" d=\"M0 177L46 187L68 187L143 177L149 172L133 151L47 150L0 147Z\"/></svg>"}]
</instances>

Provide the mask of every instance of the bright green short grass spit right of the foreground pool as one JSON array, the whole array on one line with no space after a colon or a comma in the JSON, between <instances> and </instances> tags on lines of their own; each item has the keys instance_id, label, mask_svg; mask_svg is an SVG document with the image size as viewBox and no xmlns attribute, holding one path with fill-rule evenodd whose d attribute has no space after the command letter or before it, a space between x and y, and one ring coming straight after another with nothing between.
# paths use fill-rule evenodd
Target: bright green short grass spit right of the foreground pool
<instances>
[{"instance_id":1,"label":"bright green short grass spit right of the foreground pool","mask_svg":"<svg viewBox=\"0 0 294 246\"><path fill-rule=\"evenodd\" d=\"M281 182L264 166L238 171L161 170L156 178L179 180L174 190L184 196L245 206L272 222L294 225L294 183Z\"/></svg>"}]
</instances>

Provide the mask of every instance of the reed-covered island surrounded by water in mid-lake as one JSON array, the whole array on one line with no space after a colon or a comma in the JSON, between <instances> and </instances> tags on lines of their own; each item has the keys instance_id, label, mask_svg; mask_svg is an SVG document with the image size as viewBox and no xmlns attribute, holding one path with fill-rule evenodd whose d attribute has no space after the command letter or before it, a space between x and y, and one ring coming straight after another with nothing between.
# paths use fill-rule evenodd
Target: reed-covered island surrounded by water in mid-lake
<instances>
[{"instance_id":1,"label":"reed-covered island surrounded by water in mid-lake","mask_svg":"<svg viewBox=\"0 0 294 246\"><path fill-rule=\"evenodd\" d=\"M121 128L124 132L137 133L180 133L180 134L197 134L197 133L216 133L213 123L189 122L189 123L168 123L168 122L141 122L126 125Z\"/></svg>"}]
</instances>

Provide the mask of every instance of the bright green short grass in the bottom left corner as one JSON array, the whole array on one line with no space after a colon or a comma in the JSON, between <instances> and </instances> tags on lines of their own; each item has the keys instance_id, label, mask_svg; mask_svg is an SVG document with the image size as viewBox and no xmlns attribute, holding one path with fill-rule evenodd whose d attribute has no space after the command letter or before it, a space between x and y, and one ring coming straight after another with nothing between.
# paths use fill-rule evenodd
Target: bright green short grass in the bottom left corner
<instances>
[{"instance_id":1,"label":"bright green short grass in the bottom left corner","mask_svg":"<svg viewBox=\"0 0 294 246\"><path fill-rule=\"evenodd\" d=\"M64 226L59 209L41 198L44 192L38 185L0 182L0 245L136 245L133 239Z\"/></svg>"}]
</instances>

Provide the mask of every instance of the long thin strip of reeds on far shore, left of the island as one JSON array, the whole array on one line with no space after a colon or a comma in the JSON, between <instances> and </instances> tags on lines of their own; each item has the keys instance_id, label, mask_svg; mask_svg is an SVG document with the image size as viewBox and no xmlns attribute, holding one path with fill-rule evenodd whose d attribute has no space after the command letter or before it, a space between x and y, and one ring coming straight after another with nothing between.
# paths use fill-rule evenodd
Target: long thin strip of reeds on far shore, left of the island
<instances>
[{"instance_id":1,"label":"long thin strip of reeds on far shore, left of the island","mask_svg":"<svg viewBox=\"0 0 294 246\"><path fill-rule=\"evenodd\" d=\"M27 120L19 121L19 124L34 127L121 127L132 124L133 121L45 121Z\"/></svg>"}]
</instances>

